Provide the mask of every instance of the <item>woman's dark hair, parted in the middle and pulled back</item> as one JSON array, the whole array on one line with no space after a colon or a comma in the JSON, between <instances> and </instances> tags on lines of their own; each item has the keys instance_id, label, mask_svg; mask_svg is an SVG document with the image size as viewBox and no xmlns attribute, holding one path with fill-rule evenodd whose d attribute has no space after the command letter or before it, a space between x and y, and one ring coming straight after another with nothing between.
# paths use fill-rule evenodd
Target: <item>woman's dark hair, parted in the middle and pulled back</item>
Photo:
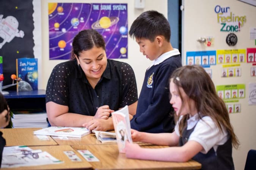
<instances>
[{"instance_id":1,"label":"woman's dark hair, parted in the middle and pulled back","mask_svg":"<svg viewBox=\"0 0 256 170\"><path fill-rule=\"evenodd\" d=\"M80 31L73 39L71 58L79 57L82 51L92 49L94 46L105 50L105 42L101 34L94 29Z\"/></svg>"}]
</instances>

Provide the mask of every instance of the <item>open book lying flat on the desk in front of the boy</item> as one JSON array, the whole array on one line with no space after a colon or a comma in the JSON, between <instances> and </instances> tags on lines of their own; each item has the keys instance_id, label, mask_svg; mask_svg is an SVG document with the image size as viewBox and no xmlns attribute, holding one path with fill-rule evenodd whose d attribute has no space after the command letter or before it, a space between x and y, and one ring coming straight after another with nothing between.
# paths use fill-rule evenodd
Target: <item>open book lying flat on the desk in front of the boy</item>
<instances>
[{"instance_id":1,"label":"open book lying flat on the desk in front of the boy","mask_svg":"<svg viewBox=\"0 0 256 170\"><path fill-rule=\"evenodd\" d=\"M102 143L116 143L116 134L113 132L97 130L92 130L91 132L94 133L96 138Z\"/></svg>"}]
</instances>

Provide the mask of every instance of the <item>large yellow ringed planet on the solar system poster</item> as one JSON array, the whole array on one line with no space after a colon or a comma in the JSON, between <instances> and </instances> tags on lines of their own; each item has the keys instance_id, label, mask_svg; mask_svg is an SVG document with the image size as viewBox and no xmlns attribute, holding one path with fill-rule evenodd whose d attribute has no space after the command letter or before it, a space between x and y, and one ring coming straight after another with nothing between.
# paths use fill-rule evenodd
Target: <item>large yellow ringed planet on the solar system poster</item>
<instances>
[{"instance_id":1,"label":"large yellow ringed planet on the solar system poster","mask_svg":"<svg viewBox=\"0 0 256 170\"><path fill-rule=\"evenodd\" d=\"M91 28L93 29L106 29L109 28L112 25L115 25L118 23L119 18L118 17L101 17L100 20L94 22L91 25Z\"/></svg>"}]
</instances>

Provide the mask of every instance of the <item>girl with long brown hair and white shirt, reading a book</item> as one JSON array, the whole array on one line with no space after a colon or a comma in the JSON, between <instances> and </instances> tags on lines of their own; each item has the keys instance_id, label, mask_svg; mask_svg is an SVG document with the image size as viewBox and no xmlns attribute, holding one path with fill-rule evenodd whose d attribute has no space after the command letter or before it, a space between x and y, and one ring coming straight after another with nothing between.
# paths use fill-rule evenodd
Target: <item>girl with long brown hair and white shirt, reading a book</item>
<instances>
[{"instance_id":1,"label":"girl with long brown hair and white shirt, reading a book","mask_svg":"<svg viewBox=\"0 0 256 170\"><path fill-rule=\"evenodd\" d=\"M218 97L214 83L198 65L178 68L170 79L170 104L176 112L173 133L144 133L132 130L133 141L169 148L141 148L126 142L127 158L202 164L202 169L234 169L232 144L239 141L229 121L225 103Z\"/></svg>"}]
</instances>

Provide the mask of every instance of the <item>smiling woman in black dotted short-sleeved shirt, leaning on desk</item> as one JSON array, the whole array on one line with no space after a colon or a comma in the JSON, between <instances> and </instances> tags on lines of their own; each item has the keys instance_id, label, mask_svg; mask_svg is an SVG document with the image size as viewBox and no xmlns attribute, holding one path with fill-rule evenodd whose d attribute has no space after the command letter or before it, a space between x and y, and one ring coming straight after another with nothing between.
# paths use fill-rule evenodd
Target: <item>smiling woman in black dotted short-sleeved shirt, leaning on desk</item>
<instances>
[{"instance_id":1,"label":"smiling woman in black dotted short-sleeved shirt, leaning on desk","mask_svg":"<svg viewBox=\"0 0 256 170\"><path fill-rule=\"evenodd\" d=\"M80 31L72 60L55 66L47 83L46 110L52 126L112 130L114 110L137 108L134 72L124 62L107 59L105 42L93 29Z\"/></svg>"}]
</instances>

